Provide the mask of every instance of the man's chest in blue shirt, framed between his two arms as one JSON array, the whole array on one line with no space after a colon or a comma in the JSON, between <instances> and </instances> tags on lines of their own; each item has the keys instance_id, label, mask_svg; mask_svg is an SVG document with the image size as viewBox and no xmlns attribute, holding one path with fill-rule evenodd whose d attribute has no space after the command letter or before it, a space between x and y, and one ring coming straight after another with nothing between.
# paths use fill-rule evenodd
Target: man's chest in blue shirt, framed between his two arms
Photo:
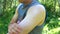
<instances>
[{"instance_id":1,"label":"man's chest in blue shirt, framed between his two arms","mask_svg":"<svg viewBox=\"0 0 60 34\"><path fill-rule=\"evenodd\" d=\"M26 16L26 13L28 11L29 7L24 7L23 5L21 5L18 9L18 20L23 20L24 17Z\"/></svg>"}]
</instances>

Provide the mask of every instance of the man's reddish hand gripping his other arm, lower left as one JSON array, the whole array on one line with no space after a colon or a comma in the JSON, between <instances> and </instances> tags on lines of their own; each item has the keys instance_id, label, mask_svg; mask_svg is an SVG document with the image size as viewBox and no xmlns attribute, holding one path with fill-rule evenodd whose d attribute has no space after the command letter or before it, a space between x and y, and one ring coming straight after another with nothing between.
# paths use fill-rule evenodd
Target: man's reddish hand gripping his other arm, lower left
<instances>
[{"instance_id":1,"label":"man's reddish hand gripping his other arm, lower left","mask_svg":"<svg viewBox=\"0 0 60 34\"><path fill-rule=\"evenodd\" d=\"M10 24L8 27L9 34L19 34L21 32L21 28L17 23Z\"/></svg>"}]
</instances>

